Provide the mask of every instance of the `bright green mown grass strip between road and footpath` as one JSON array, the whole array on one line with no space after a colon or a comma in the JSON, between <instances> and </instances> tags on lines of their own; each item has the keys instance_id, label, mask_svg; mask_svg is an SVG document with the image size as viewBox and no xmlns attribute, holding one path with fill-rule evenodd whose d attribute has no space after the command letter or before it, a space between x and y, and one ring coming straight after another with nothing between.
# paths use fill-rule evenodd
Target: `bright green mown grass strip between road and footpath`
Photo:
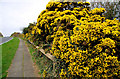
<instances>
[{"instance_id":1,"label":"bright green mown grass strip between road and footpath","mask_svg":"<svg viewBox=\"0 0 120 79\"><path fill-rule=\"evenodd\" d=\"M7 43L0 45L2 48L2 77L7 76L7 70L14 58L14 55L19 46L19 39L13 38Z\"/></svg>"}]
</instances>

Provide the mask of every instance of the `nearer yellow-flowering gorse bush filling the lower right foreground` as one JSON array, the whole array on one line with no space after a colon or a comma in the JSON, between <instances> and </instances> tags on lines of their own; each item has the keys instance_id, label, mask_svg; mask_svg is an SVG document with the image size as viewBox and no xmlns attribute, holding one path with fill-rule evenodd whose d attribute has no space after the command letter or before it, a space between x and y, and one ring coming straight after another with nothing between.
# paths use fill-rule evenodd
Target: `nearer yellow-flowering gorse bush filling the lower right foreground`
<instances>
[{"instance_id":1,"label":"nearer yellow-flowering gorse bush filling the lower right foreground","mask_svg":"<svg viewBox=\"0 0 120 79\"><path fill-rule=\"evenodd\" d=\"M107 34L104 32L105 27L110 26L105 26L104 22L94 24L86 22L86 24L81 23L80 26L75 26L73 34L69 35L70 31L63 30L55 33L52 52L57 58L66 62L68 74L75 77L120 75L119 47L116 44L120 39L112 31L118 31L117 36L120 32L117 28L110 30L111 33Z\"/></svg>"}]
</instances>

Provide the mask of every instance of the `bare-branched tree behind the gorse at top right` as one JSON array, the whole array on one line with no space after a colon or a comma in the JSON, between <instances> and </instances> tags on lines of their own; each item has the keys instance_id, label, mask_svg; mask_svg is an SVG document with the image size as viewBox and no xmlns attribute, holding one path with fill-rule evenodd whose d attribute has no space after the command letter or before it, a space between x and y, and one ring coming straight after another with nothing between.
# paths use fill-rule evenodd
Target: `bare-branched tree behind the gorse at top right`
<instances>
[{"instance_id":1,"label":"bare-branched tree behind the gorse at top right","mask_svg":"<svg viewBox=\"0 0 120 79\"><path fill-rule=\"evenodd\" d=\"M106 12L104 13L104 16L107 19L114 19L117 18L120 20L120 1L118 2L117 0L112 0L111 2L100 2L100 0L97 2L96 0L91 0L91 9L94 8L105 8Z\"/></svg>"}]
</instances>

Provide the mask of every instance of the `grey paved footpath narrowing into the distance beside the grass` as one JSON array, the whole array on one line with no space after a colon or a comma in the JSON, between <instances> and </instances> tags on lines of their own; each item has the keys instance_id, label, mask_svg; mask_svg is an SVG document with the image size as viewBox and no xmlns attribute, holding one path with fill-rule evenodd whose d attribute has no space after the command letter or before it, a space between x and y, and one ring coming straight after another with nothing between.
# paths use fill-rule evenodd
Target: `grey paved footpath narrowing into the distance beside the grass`
<instances>
[{"instance_id":1,"label":"grey paved footpath narrowing into the distance beside the grass","mask_svg":"<svg viewBox=\"0 0 120 79\"><path fill-rule=\"evenodd\" d=\"M32 58L23 40L20 39L19 48L15 54L8 77L36 77Z\"/></svg>"}]
</instances>

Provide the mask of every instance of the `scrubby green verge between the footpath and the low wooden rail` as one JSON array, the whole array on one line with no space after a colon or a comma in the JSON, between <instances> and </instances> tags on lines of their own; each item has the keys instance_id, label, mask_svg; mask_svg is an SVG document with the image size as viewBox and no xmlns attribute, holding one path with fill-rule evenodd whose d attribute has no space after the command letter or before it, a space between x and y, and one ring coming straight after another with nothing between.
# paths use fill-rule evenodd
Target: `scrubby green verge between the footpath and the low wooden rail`
<instances>
[{"instance_id":1,"label":"scrubby green verge between the footpath and the low wooden rail","mask_svg":"<svg viewBox=\"0 0 120 79\"><path fill-rule=\"evenodd\" d=\"M26 42L26 44L28 46L30 54L32 55L33 62L36 63L40 70L38 74L40 74L40 76L43 77L43 71L46 70L47 77L53 76L53 62L50 59L48 59L45 55L43 55L40 51L35 49L31 44L29 44L28 42Z\"/></svg>"}]
</instances>

